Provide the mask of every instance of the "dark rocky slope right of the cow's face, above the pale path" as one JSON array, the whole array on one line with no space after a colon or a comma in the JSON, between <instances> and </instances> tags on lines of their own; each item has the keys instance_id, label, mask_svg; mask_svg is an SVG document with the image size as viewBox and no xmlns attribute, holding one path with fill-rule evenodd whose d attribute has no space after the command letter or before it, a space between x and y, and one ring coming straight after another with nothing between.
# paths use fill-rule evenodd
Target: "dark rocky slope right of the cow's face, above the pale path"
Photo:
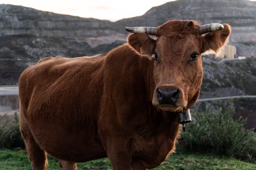
<instances>
[{"instance_id":1,"label":"dark rocky slope right of the cow's face, above the pale path","mask_svg":"<svg viewBox=\"0 0 256 170\"><path fill-rule=\"evenodd\" d=\"M203 61L200 98L256 95L256 58Z\"/></svg>"}]
</instances>

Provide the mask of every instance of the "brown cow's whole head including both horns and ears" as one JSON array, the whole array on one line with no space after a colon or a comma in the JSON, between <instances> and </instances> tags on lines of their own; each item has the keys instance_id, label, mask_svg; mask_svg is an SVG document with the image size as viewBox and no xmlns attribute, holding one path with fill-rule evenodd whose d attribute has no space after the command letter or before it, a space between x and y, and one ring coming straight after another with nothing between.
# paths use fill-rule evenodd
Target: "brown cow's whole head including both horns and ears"
<instances>
[{"instance_id":1,"label":"brown cow's whole head including both horns and ears","mask_svg":"<svg viewBox=\"0 0 256 170\"><path fill-rule=\"evenodd\" d=\"M203 77L201 55L220 51L231 32L228 24L200 26L188 20L126 30L133 32L128 36L132 49L155 60L153 105L172 112L184 112L195 104Z\"/></svg>"}]
</instances>

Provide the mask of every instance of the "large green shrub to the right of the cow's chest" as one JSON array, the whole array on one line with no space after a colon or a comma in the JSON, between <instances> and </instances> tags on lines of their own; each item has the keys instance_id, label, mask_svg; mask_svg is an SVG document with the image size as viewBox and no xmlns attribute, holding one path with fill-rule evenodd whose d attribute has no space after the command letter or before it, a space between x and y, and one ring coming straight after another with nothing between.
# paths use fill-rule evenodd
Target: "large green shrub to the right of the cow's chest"
<instances>
[{"instance_id":1,"label":"large green shrub to the right of the cow's chest","mask_svg":"<svg viewBox=\"0 0 256 170\"><path fill-rule=\"evenodd\" d=\"M246 119L234 120L234 107L230 102L226 110L210 110L205 113L196 109L193 121L182 133L182 146L185 150L202 153L214 153L237 159L254 161L256 157L256 134L246 130Z\"/></svg>"}]
</instances>

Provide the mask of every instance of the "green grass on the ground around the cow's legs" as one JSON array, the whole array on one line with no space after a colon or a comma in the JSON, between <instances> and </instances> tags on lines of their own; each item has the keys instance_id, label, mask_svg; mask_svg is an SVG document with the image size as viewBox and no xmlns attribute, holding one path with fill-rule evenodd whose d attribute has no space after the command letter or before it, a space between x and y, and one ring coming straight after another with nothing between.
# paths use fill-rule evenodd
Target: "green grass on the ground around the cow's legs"
<instances>
[{"instance_id":1,"label":"green grass on the ground around the cow's legs","mask_svg":"<svg viewBox=\"0 0 256 170\"><path fill-rule=\"evenodd\" d=\"M25 150L0 149L1 170L31 170ZM61 170L58 160L48 157L48 170ZM78 170L111 170L108 159L78 163ZM256 164L237 159L177 152L155 170L256 170Z\"/></svg>"}]
</instances>

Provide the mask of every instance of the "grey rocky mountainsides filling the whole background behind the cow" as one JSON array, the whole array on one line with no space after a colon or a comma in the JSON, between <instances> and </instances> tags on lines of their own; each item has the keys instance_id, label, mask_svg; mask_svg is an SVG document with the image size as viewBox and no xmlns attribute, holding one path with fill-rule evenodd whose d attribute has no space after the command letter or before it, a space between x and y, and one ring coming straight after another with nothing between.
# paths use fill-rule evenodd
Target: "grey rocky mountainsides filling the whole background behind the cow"
<instances>
[{"instance_id":1,"label":"grey rocky mountainsides filling the whole background behind the cow","mask_svg":"<svg viewBox=\"0 0 256 170\"><path fill-rule=\"evenodd\" d=\"M177 0L117 22L0 4L0 85L17 84L20 73L42 57L105 53L126 42L125 26L159 26L168 20L229 23L237 54L256 55L256 2L249 0ZM200 98L256 95L256 58L204 60L203 67ZM248 117L248 128L255 127L255 99L235 104ZM227 100L214 104L220 105L227 106Z\"/></svg>"}]
</instances>

